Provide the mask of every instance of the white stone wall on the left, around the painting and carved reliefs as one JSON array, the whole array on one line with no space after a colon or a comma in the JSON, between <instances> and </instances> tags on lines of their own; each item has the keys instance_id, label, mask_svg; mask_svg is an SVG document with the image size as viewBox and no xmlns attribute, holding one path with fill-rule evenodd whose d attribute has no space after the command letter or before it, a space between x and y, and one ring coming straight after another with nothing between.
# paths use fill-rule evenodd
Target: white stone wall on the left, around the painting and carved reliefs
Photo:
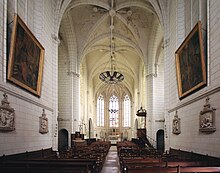
<instances>
[{"instance_id":1,"label":"white stone wall on the left, around the painting and carved reliefs","mask_svg":"<svg viewBox=\"0 0 220 173\"><path fill-rule=\"evenodd\" d=\"M7 93L10 105L15 109L16 114L15 131L0 132L0 155L50 147L56 149L56 145L53 145L54 141L57 140L53 125L56 122L57 112L52 90L56 86L53 80L53 71L56 72L57 70L55 69L56 66L52 65L53 51L56 51L53 49L54 42L51 37L54 33L53 4L50 0L11 2L15 3L12 12L18 12L19 16L43 45L45 56L40 98L6 81L6 21L7 3L9 1L0 1L0 33L3 33L0 35L0 100L3 98L3 93ZM39 133L39 117L42 115L42 109L45 109L49 122L49 132L47 134Z\"/></svg>"}]
</instances>

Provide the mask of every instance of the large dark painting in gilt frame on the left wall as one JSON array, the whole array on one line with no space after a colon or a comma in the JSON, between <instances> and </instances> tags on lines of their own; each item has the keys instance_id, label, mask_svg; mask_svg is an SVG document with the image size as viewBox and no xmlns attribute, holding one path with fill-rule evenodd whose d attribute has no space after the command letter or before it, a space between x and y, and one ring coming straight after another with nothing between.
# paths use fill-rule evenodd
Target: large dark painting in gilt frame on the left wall
<instances>
[{"instance_id":1,"label":"large dark painting in gilt frame on the left wall","mask_svg":"<svg viewBox=\"0 0 220 173\"><path fill-rule=\"evenodd\" d=\"M22 19L15 15L7 79L40 97L44 48Z\"/></svg>"}]
</instances>

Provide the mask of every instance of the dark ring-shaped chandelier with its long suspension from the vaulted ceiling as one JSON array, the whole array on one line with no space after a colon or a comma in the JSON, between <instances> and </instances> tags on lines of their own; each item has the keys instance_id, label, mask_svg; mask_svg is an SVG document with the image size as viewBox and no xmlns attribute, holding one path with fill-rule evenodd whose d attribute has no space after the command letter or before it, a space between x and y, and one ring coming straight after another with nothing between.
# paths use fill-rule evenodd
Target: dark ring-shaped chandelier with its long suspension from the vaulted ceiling
<instances>
[{"instance_id":1,"label":"dark ring-shaped chandelier with its long suspension from the vaulted ceiling","mask_svg":"<svg viewBox=\"0 0 220 173\"><path fill-rule=\"evenodd\" d=\"M110 70L104 71L99 75L99 79L107 84L117 84L124 80L124 75L118 71L116 71L115 66L115 52L113 47L115 46L115 41L113 37L113 17L115 16L116 11L113 9L113 1L112 1L112 8L109 11L109 15L111 17L110 23Z\"/></svg>"}]
</instances>

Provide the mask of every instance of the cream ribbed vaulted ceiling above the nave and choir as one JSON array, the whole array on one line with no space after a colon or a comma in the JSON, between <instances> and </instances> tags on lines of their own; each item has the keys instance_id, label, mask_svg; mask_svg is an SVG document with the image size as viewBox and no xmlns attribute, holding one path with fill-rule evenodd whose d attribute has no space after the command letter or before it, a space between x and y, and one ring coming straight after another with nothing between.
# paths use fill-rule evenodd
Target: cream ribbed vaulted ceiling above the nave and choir
<instances>
[{"instance_id":1,"label":"cream ribbed vaulted ceiling above the nave and choir","mask_svg":"<svg viewBox=\"0 0 220 173\"><path fill-rule=\"evenodd\" d=\"M140 69L155 64L163 32L147 0L72 0L63 15L59 35L68 58L86 68L90 85L102 87L99 74L110 68L111 31L116 70L133 91Z\"/></svg>"}]
</instances>

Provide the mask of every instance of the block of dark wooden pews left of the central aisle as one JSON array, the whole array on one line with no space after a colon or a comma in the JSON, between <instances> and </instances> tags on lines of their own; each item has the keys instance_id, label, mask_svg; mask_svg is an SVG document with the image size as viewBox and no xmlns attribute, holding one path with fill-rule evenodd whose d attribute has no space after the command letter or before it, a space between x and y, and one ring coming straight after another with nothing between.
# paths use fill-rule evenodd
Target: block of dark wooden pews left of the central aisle
<instances>
[{"instance_id":1,"label":"block of dark wooden pews left of the central aisle","mask_svg":"<svg viewBox=\"0 0 220 173\"><path fill-rule=\"evenodd\" d=\"M0 157L0 173L99 173L110 143L75 145L64 152L51 149Z\"/></svg>"}]
</instances>

